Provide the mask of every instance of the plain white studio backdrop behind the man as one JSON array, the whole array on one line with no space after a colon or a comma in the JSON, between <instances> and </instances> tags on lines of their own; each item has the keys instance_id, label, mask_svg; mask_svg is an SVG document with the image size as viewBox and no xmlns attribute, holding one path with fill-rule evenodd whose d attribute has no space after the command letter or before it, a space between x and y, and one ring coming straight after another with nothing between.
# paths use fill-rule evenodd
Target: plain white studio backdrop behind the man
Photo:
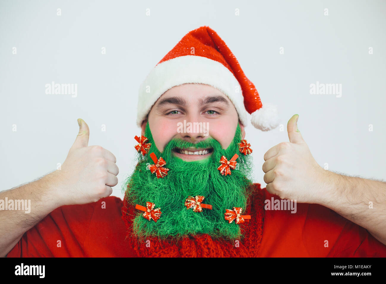
<instances>
[{"instance_id":1,"label":"plain white studio backdrop behind the man","mask_svg":"<svg viewBox=\"0 0 386 284\"><path fill-rule=\"evenodd\" d=\"M384 179L385 15L385 1L1 1L0 190L63 163L82 118L89 145L117 157L112 195L123 197L139 85L200 26L227 43L262 103L278 105L282 127L245 128L255 182L265 187L264 153L288 141L293 114L319 165ZM76 97L46 94L52 81L76 83ZM341 93L310 94L317 82Z\"/></svg>"}]
</instances>

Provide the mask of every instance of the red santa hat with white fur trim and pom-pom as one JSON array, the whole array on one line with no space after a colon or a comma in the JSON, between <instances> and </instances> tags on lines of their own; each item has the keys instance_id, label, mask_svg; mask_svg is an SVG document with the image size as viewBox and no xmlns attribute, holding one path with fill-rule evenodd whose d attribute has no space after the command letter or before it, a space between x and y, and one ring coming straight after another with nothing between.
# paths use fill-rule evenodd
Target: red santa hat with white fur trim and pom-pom
<instances>
[{"instance_id":1,"label":"red santa hat with white fur trim and pom-pom","mask_svg":"<svg viewBox=\"0 0 386 284\"><path fill-rule=\"evenodd\" d=\"M188 32L151 70L139 88L137 125L141 127L152 105L170 88L201 83L217 88L234 104L247 126L247 112L257 129L276 128L276 106L262 105L254 84L245 76L225 42L208 26Z\"/></svg>"}]
</instances>

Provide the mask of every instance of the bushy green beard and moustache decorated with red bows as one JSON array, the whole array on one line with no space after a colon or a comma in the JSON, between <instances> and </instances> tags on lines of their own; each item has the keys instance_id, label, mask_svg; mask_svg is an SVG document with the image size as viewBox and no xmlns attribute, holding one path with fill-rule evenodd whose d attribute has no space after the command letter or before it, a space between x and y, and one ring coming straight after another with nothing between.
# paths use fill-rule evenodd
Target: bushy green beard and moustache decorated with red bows
<instances>
[{"instance_id":1,"label":"bushy green beard and moustache decorated with red bows","mask_svg":"<svg viewBox=\"0 0 386 284\"><path fill-rule=\"evenodd\" d=\"M126 201L130 204L146 206L146 202L155 204L154 208L161 208L161 217L157 222L147 220L142 211L133 220L133 235L139 238L158 236L160 239L179 239L183 236L209 234L212 238L238 239L241 236L240 225L235 221L229 224L224 218L225 209L242 207L245 212L247 201L251 194L249 187L252 184L252 157L239 151L241 140L240 125L237 124L234 139L224 150L220 143L207 138L193 144L181 139L172 139L160 153L154 143L149 122L144 133L151 143L149 152L142 156L139 153L138 164L134 173L129 176L122 187ZM213 152L208 158L200 161L186 162L174 156L173 148L208 148ZM165 168L168 174L157 179L155 173L147 168L154 164L149 156L154 152L157 159L162 157L166 161ZM222 175L217 169L220 166L221 156L230 160L234 154L239 155L237 165L232 174ZM186 209L185 199L188 196L205 196L202 203L211 204L212 210L203 208L203 212L196 213L193 209ZM252 216L253 218L253 216ZM248 223L247 223L248 224Z\"/></svg>"}]
</instances>

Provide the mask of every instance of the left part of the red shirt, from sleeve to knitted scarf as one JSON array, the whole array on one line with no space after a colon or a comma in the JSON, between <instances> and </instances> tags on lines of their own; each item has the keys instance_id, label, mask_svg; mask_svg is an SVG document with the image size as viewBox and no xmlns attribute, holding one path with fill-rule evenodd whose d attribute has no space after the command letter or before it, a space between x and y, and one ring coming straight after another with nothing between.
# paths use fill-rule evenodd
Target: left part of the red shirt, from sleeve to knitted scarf
<instances>
[{"instance_id":1,"label":"left part of the red shirt, from sleeve to knitted scarf","mask_svg":"<svg viewBox=\"0 0 386 284\"><path fill-rule=\"evenodd\" d=\"M62 206L24 233L7 257L132 257L122 200ZM60 241L60 242L59 242Z\"/></svg>"}]
</instances>

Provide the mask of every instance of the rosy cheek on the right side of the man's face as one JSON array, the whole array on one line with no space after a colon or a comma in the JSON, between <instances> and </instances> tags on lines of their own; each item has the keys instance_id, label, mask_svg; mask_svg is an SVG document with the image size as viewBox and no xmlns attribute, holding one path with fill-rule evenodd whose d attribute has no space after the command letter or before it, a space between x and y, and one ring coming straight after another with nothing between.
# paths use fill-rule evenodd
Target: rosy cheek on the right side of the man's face
<instances>
[{"instance_id":1,"label":"rosy cheek on the right side of the man's face","mask_svg":"<svg viewBox=\"0 0 386 284\"><path fill-rule=\"evenodd\" d=\"M223 149L227 149L235 137L237 128L234 119L222 119L221 121L209 122L209 135L220 142Z\"/></svg>"}]
</instances>

